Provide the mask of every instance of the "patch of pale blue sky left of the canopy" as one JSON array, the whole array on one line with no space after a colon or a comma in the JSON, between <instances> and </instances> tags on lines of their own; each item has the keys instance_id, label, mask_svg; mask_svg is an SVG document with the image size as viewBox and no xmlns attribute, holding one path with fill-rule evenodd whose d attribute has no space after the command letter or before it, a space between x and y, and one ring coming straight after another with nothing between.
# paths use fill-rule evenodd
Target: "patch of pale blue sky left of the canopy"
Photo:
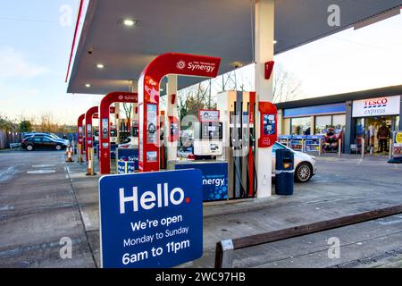
<instances>
[{"instance_id":1,"label":"patch of pale blue sky left of the canopy","mask_svg":"<svg viewBox=\"0 0 402 286\"><path fill-rule=\"evenodd\" d=\"M71 7L70 25L63 5ZM18 120L52 114L72 124L99 102L98 96L66 94L78 7L78 0L0 2L0 114Z\"/></svg>"}]
</instances>

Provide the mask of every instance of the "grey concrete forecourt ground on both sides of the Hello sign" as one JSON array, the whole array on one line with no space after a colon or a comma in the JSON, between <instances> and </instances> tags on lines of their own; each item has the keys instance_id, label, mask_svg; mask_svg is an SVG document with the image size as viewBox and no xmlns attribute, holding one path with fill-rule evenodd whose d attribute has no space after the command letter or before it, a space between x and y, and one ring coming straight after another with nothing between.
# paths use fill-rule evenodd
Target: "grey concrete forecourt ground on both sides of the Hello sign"
<instances>
[{"instance_id":1,"label":"grey concrete forecourt ground on both sides of the Hello sign","mask_svg":"<svg viewBox=\"0 0 402 286\"><path fill-rule=\"evenodd\" d=\"M219 240L356 214L402 202L402 166L386 157L323 156L312 181L295 194L205 204L204 257L190 267L212 267ZM33 165L52 170L27 174ZM99 265L97 180L85 164L64 164L63 153L0 152L0 266ZM239 267L381 267L399 265L402 214L368 223L236 251ZM72 259L58 255L73 240ZM328 258L327 240L340 240L340 258Z\"/></svg>"}]
</instances>

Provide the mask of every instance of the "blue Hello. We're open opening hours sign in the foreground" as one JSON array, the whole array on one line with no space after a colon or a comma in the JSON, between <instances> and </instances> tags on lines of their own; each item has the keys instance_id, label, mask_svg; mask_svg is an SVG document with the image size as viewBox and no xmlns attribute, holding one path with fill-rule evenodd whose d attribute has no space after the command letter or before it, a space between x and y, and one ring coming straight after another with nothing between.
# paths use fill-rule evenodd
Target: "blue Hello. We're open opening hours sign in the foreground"
<instances>
[{"instance_id":1,"label":"blue Hello. We're open opening hours sign in the foreground","mask_svg":"<svg viewBox=\"0 0 402 286\"><path fill-rule=\"evenodd\" d=\"M102 177L102 267L166 268L202 257L202 188L194 169Z\"/></svg>"}]
</instances>

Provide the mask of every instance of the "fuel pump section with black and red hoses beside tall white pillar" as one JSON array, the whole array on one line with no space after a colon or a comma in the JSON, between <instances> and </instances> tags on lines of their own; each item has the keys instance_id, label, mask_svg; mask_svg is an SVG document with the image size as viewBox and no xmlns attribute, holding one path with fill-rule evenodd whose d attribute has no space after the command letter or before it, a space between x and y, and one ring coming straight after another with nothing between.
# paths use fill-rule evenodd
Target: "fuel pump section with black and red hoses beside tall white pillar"
<instances>
[{"instance_id":1,"label":"fuel pump section with black and red hoses beside tall white pillar","mask_svg":"<svg viewBox=\"0 0 402 286\"><path fill-rule=\"evenodd\" d=\"M217 98L217 107L225 126L222 159L229 165L229 196L253 198L257 189L255 92L226 91Z\"/></svg>"}]
</instances>

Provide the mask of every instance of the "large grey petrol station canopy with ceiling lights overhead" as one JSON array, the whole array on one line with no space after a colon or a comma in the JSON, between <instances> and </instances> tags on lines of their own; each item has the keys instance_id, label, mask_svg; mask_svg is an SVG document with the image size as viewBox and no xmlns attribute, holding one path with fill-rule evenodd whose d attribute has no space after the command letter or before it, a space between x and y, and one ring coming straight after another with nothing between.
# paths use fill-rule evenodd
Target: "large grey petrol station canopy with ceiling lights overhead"
<instances>
[{"instance_id":1,"label":"large grey petrol station canopy with ceiling lights overhead","mask_svg":"<svg viewBox=\"0 0 402 286\"><path fill-rule=\"evenodd\" d=\"M168 52L221 57L220 74L233 70L235 62L254 62L254 0L90 0L82 4L68 71L69 93L129 91L130 80L137 85L147 64ZM331 4L339 5L340 26L328 24ZM276 1L275 54L400 13L401 5L401 0ZM127 19L137 22L127 27L122 23ZM98 63L105 68L97 68ZM180 77L178 88L197 81Z\"/></svg>"}]
</instances>

